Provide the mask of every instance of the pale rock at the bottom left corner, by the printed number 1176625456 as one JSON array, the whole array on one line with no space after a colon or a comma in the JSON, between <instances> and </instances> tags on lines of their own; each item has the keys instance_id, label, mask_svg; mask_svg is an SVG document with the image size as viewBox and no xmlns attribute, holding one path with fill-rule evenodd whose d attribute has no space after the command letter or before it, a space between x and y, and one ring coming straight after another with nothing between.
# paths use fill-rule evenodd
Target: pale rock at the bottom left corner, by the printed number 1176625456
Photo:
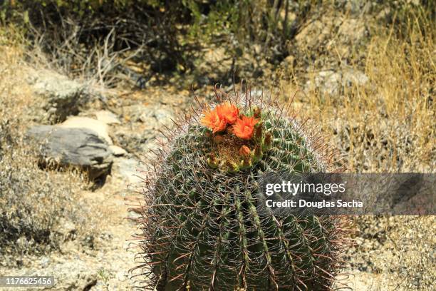
<instances>
[{"instance_id":1,"label":"pale rock at the bottom left corner, by the printed number 1176625456","mask_svg":"<svg viewBox=\"0 0 436 291\"><path fill-rule=\"evenodd\" d=\"M40 270L21 272L21 276L54 276L55 285L43 290L89 290L97 283L97 274L82 260L70 260L41 267ZM35 287L21 287L35 290Z\"/></svg>"}]
</instances>

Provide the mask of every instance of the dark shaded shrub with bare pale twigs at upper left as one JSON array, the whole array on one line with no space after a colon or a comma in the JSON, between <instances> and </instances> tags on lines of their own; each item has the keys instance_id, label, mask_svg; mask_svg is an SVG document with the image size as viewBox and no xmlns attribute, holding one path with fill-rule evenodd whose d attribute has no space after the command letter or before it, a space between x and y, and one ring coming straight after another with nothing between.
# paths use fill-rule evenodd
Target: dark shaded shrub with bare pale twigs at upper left
<instances>
[{"instance_id":1,"label":"dark shaded shrub with bare pale twigs at upper left","mask_svg":"<svg viewBox=\"0 0 436 291\"><path fill-rule=\"evenodd\" d=\"M25 26L33 46L71 76L98 77L110 86L131 58L155 72L190 68L193 48L177 39L190 18L182 1L11 3L3 6L4 21Z\"/></svg>"}]
</instances>

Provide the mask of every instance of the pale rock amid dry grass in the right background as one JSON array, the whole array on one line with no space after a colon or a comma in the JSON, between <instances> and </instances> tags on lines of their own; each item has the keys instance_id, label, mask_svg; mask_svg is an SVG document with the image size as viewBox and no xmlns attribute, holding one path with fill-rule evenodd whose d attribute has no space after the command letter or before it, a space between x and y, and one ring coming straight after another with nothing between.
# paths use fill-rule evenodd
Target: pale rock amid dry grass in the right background
<instances>
[{"instance_id":1,"label":"pale rock amid dry grass in the right background","mask_svg":"<svg viewBox=\"0 0 436 291\"><path fill-rule=\"evenodd\" d=\"M336 95L341 92L343 87L365 85L365 83L369 81L369 78L361 71L347 68L343 71L320 71L313 81L307 81L306 91L317 89L321 91L321 93Z\"/></svg>"}]
</instances>

